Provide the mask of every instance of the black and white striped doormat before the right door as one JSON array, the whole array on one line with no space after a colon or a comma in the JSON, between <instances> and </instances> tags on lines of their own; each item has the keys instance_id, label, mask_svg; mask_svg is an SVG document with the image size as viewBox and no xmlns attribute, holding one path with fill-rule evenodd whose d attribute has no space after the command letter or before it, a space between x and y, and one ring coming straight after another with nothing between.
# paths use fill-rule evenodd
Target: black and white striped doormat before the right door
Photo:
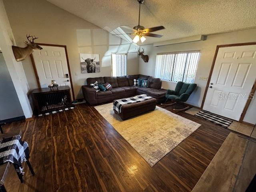
<instances>
[{"instance_id":1,"label":"black and white striped doormat before the right door","mask_svg":"<svg viewBox=\"0 0 256 192\"><path fill-rule=\"evenodd\" d=\"M203 119L213 122L215 124L219 124L225 128L230 126L230 124L233 122L232 120L229 120L228 118L224 118L222 116L210 113L205 110L200 110L197 114L195 114L195 116L203 118Z\"/></svg>"}]
</instances>

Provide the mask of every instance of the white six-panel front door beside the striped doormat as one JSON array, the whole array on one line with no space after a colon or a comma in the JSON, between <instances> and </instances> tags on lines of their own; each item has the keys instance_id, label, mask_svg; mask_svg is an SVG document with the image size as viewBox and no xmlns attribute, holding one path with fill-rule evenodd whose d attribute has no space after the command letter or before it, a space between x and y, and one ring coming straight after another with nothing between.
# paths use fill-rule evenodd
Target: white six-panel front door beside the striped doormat
<instances>
[{"instance_id":1,"label":"white six-panel front door beside the striped doormat","mask_svg":"<svg viewBox=\"0 0 256 192\"><path fill-rule=\"evenodd\" d=\"M256 78L256 45L219 48L203 109L239 120Z\"/></svg>"}]
</instances>

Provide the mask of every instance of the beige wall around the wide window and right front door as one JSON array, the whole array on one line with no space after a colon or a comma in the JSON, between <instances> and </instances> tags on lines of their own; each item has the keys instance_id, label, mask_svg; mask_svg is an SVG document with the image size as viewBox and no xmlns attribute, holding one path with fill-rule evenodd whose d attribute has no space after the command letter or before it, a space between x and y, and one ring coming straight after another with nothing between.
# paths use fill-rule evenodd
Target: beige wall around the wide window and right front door
<instances>
[{"instance_id":1,"label":"beige wall around the wide window and right front door","mask_svg":"<svg viewBox=\"0 0 256 192\"><path fill-rule=\"evenodd\" d=\"M187 50L201 50L200 60L195 77L195 83L198 87L192 96L187 101L188 104L200 107L206 88L206 82L199 80L200 76L208 77L210 68L212 66L212 60L217 45L221 44L233 44L233 43L245 43L245 42L256 42L256 29L242 30L237 32L228 32L223 34L215 34L207 36L205 41L198 42L187 42L181 44L173 44L166 46L154 47L151 45L142 46L145 49L144 54L148 54L149 61L144 63L142 59L139 59L139 73L154 76L155 64L156 64L156 53L160 52L175 52L175 51L187 51ZM163 88L174 89L176 83L163 82ZM250 114L256 113L256 102L253 100L246 114L245 120L250 123L256 123L255 118L252 118Z\"/></svg>"}]
</instances>

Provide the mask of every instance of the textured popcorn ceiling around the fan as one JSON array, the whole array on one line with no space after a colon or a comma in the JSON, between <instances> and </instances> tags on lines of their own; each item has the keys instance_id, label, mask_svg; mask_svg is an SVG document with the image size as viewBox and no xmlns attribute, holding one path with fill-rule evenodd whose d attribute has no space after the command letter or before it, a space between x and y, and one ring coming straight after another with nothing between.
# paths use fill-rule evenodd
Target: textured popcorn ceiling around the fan
<instances>
[{"instance_id":1,"label":"textured popcorn ceiling around the fan","mask_svg":"<svg viewBox=\"0 0 256 192\"><path fill-rule=\"evenodd\" d=\"M137 0L48 0L109 32L138 24ZM256 27L256 0L145 0L140 25L163 25L144 44Z\"/></svg>"}]
</instances>

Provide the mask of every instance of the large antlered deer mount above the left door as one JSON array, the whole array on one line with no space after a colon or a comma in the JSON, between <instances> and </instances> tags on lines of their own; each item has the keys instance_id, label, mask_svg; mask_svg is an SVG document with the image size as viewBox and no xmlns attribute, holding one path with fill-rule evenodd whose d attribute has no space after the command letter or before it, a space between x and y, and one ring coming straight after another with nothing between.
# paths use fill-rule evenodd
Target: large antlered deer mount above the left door
<instances>
[{"instance_id":1,"label":"large antlered deer mount above the left door","mask_svg":"<svg viewBox=\"0 0 256 192\"><path fill-rule=\"evenodd\" d=\"M34 50L41 50L43 49L39 45L37 45L34 40L38 39L36 36L27 36L28 41L24 41L24 43L27 44L26 47L17 47L17 46L12 46L12 51L14 53L16 61L23 61L26 56L32 54Z\"/></svg>"}]
</instances>

